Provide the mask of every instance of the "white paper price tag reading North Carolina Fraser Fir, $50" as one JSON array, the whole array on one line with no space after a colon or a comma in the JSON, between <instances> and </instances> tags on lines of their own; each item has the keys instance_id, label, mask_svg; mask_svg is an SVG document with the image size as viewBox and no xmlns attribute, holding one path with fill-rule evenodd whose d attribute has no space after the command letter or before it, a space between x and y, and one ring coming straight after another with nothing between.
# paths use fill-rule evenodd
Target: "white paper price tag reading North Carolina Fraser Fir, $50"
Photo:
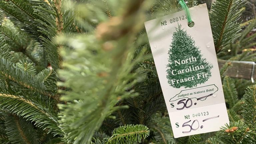
<instances>
[{"instance_id":1,"label":"white paper price tag reading North Carolina Fraser Fir, $50","mask_svg":"<svg viewBox=\"0 0 256 144\"><path fill-rule=\"evenodd\" d=\"M229 123L206 4L145 22L175 138Z\"/></svg>"}]
</instances>

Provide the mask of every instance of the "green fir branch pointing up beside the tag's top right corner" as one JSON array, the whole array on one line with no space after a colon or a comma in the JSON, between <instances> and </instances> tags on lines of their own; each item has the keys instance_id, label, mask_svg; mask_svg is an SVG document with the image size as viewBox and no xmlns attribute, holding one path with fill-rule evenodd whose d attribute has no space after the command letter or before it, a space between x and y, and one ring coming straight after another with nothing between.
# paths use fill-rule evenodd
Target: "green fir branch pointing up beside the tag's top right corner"
<instances>
[{"instance_id":1,"label":"green fir branch pointing up beside the tag's top right corner","mask_svg":"<svg viewBox=\"0 0 256 144\"><path fill-rule=\"evenodd\" d=\"M212 12L209 15L216 53L220 53L240 35L238 20L241 15L240 9L245 3L245 0L217 0L212 5Z\"/></svg>"}]
</instances>

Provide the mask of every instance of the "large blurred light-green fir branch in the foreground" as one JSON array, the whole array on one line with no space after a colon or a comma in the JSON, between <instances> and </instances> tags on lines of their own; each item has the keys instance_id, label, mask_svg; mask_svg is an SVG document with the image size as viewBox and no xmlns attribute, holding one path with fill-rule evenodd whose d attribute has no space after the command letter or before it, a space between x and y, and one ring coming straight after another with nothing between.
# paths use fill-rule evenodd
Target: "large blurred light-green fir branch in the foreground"
<instances>
[{"instance_id":1,"label":"large blurred light-green fir branch in the foreground","mask_svg":"<svg viewBox=\"0 0 256 144\"><path fill-rule=\"evenodd\" d=\"M76 41L81 45L74 44L74 37L59 39L59 43L66 42L67 46L74 47L72 50L62 51L64 69L59 71L64 81L59 86L72 89L62 91L65 95L61 100L69 103L59 104L61 127L67 133L65 137L69 142L89 144L94 131L99 129L103 120L119 108L115 105L122 98L137 95L131 89L136 83L136 74L130 73L135 65L130 50L134 48L134 37L141 30L140 26L135 25L143 23L141 17L138 17L143 12L143 2L127 1L125 13L120 12L122 15L100 23L93 33L95 35L86 36L92 38L89 41L84 41L85 35L77 35ZM128 29L133 31L127 31ZM104 45L107 42L118 45L111 46L109 50ZM91 43L94 43L93 47L84 49L84 45ZM84 63L85 59L89 63ZM71 79L87 82L73 84Z\"/></svg>"}]
</instances>

